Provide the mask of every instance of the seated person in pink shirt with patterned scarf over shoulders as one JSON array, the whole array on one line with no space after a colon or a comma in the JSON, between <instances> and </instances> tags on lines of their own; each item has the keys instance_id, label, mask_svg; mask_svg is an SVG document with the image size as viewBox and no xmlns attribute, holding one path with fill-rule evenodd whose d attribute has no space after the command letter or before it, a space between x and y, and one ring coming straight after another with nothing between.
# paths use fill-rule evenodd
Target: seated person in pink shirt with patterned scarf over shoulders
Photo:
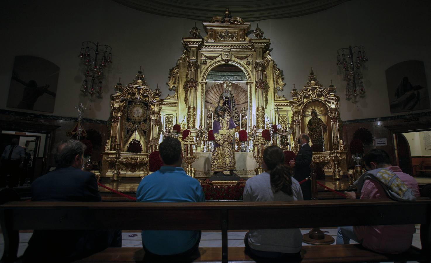
<instances>
[{"instance_id":1,"label":"seated person in pink shirt with patterned scarf over shoulders","mask_svg":"<svg viewBox=\"0 0 431 263\"><path fill-rule=\"evenodd\" d=\"M400 167L392 166L389 155L384 150L372 149L364 156L363 161L368 172L355 182L361 199L391 198L397 201L413 201L420 197L416 180L403 173ZM391 182L391 179L394 183L383 183ZM345 193L347 198L356 199L355 192ZM414 225L343 226L338 227L337 244L349 244L352 239L372 251L397 254L410 248L415 232Z\"/></svg>"}]
</instances>

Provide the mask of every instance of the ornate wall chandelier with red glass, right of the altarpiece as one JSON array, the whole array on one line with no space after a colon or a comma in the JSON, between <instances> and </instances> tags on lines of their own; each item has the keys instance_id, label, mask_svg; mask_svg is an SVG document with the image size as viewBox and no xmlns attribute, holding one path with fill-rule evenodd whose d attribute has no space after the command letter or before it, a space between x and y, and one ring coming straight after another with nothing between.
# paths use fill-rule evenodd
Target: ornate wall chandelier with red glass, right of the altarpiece
<instances>
[{"instance_id":1,"label":"ornate wall chandelier with red glass, right of the altarpiece","mask_svg":"<svg viewBox=\"0 0 431 263\"><path fill-rule=\"evenodd\" d=\"M354 60L355 56L356 60ZM364 46L349 46L337 50L337 74L342 74L343 80L347 82L346 100L352 99L352 102L356 103L359 101L358 97L365 97L361 68L367 69L367 61Z\"/></svg>"}]
</instances>

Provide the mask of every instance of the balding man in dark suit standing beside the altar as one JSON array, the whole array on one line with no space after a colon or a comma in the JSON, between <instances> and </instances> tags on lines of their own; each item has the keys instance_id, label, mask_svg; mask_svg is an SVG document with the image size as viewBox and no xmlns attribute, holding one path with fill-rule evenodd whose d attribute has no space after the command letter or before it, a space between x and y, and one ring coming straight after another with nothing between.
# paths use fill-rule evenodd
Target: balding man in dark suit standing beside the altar
<instances>
[{"instance_id":1,"label":"balding man in dark suit standing beside the altar","mask_svg":"<svg viewBox=\"0 0 431 263\"><path fill-rule=\"evenodd\" d=\"M294 167L294 178L297 179L298 182L306 179L311 173L310 164L313 152L308 144L309 142L310 137L305 133L301 134L298 138L298 144L301 145L301 148L298 151L296 160L293 159L289 162L290 166ZM311 200L311 180L302 183L301 189L304 200Z\"/></svg>"}]
</instances>

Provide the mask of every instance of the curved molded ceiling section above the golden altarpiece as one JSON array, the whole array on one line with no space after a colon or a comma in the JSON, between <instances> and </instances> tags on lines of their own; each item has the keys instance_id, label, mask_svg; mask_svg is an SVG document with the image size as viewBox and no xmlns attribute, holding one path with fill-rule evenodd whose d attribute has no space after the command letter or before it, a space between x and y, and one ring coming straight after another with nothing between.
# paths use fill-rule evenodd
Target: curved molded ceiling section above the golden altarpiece
<instances>
[{"instance_id":1,"label":"curved molded ceiling section above the golden altarpiece","mask_svg":"<svg viewBox=\"0 0 431 263\"><path fill-rule=\"evenodd\" d=\"M309 15L349 0L114 0L143 12L197 21L223 16L228 7L231 16L246 22Z\"/></svg>"}]
</instances>

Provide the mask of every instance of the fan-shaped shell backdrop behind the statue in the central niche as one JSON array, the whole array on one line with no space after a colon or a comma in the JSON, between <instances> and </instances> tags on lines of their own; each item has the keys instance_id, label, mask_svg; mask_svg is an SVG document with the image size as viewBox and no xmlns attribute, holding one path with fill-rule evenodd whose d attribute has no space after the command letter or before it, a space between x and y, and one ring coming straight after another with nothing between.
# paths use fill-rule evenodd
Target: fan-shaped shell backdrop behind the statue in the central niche
<instances>
[{"instance_id":1,"label":"fan-shaped shell backdrop behind the statue in the central niche","mask_svg":"<svg viewBox=\"0 0 431 263\"><path fill-rule=\"evenodd\" d=\"M220 82L213 85L205 92L205 107L215 108L219 103L220 95L225 91L225 83ZM235 103L237 104L237 109L240 111L242 107L247 108L248 98L247 90L241 85L232 82L231 93L234 95Z\"/></svg>"}]
</instances>

